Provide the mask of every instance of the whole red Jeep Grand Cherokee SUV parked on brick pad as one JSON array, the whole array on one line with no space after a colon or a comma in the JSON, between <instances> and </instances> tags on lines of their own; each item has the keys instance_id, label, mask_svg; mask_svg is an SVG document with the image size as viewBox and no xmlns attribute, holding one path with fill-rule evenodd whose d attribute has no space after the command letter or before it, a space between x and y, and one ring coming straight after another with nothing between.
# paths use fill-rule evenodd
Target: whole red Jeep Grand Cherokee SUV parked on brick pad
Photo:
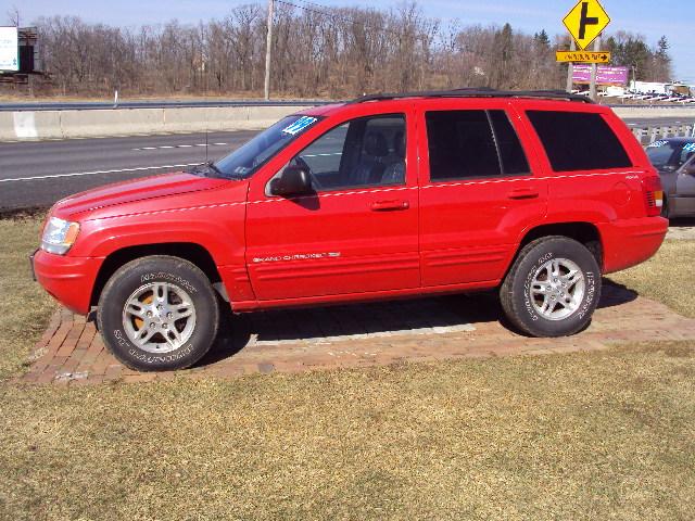
<instances>
[{"instance_id":1,"label":"whole red Jeep Grand Cherokee SUV parked on brick pad","mask_svg":"<svg viewBox=\"0 0 695 521\"><path fill-rule=\"evenodd\" d=\"M500 289L531 335L585 328L602 274L668 221L640 143L560 92L383 94L286 117L222 160L52 208L38 281L140 370L188 367L235 313ZM225 306L222 306L223 308Z\"/></svg>"}]
</instances>

